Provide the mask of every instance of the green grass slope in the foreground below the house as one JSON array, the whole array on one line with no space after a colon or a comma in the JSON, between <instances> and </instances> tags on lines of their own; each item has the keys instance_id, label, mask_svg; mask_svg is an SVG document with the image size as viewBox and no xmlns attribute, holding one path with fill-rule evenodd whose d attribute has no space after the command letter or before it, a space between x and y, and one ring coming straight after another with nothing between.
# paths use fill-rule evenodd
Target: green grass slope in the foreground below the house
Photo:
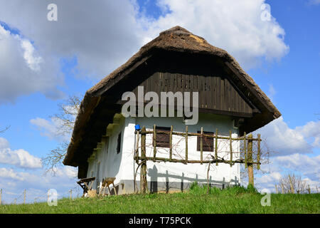
<instances>
[{"instance_id":1,"label":"green grass slope in the foreground below the house","mask_svg":"<svg viewBox=\"0 0 320 228\"><path fill-rule=\"evenodd\" d=\"M119 195L100 198L60 199L57 207L47 203L1 205L0 213L317 213L319 194L272 194L271 206L262 207L252 187L225 190L192 185L188 192Z\"/></svg>"}]
</instances>

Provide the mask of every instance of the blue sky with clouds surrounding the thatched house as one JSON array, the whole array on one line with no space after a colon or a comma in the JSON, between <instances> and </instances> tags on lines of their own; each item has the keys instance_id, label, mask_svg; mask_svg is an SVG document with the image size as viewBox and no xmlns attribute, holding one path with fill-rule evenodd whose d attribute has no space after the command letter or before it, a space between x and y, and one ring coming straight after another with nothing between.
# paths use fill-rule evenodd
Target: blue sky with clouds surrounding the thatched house
<instances>
[{"instance_id":1,"label":"blue sky with clouds surrounding the thatched house","mask_svg":"<svg viewBox=\"0 0 320 228\"><path fill-rule=\"evenodd\" d=\"M58 21L48 21L48 5ZM267 5L265 5L267 4ZM270 14L268 14L270 12ZM256 131L275 151L256 186L274 192L287 173L320 184L320 1L0 0L0 188L2 201L79 195L73 167L45 174L41 158L64 139L50 116L152 38L179 25L223 48L282 116ZM20 200L20 201L19 201Z\"/></svg>"}]
</instances>

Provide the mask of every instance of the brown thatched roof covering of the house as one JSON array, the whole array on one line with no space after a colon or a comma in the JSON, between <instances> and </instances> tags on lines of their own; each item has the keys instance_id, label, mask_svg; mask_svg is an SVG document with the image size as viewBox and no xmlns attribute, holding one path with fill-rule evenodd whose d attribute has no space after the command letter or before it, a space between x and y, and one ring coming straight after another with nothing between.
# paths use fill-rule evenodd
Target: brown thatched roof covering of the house
<instances>
[{"instance_id":1,"label":"brown thatched roof covering of the house","mask_svg":"<svg viewBox=\"0 0 320 228\"><path fill-rule=\"evenodd\" d=\"M78 162L75 162L74 160L74 155L75 152L79 150L78 146L80 145L82 137L85 134L83 128L90 120L90 115L92 115L95 107L99 104L102 95L108 89L112 88L112 86L114 86L114 83L117 81L118 77L122 76L129 68L140 64L146 56L151 55L156 50L176 51L181 53L201 53L204 55L217 56L221 58L228 68L230 68L230 70L233 71L238 78L240 78L242 83L244 83L247 88L250 88L250 92L254 93L255 97L260 100L260 103L262 103L266 110L268 110L266 114L268 115L268 118L263 125L281 115L279 110L277 110L267 95L265 95L259 86L257 86L255 81L253 81L252 78L242 70L239 63L235 61L233 56L230 56L227 51L224 51L221 48L210 45L210 43L208 43L204 38L194 35L185 28L175 26L161 32L158 37L154 38L154 40L142 46L142 48L140 48L140 50L134 54L134 56L129 58L126 63L110 73L109 76L103 78L99 83L90 88L90 90L87 90L87 93L85 93L85 98L83 98L80 105L78 116L75 120L75 126L73 129L72 138L70 140L70 145L68 147L68 153L63 161L64 165L78 165ZM260 128L261 125L258 127Z\"/></svg>"}]
</instances>

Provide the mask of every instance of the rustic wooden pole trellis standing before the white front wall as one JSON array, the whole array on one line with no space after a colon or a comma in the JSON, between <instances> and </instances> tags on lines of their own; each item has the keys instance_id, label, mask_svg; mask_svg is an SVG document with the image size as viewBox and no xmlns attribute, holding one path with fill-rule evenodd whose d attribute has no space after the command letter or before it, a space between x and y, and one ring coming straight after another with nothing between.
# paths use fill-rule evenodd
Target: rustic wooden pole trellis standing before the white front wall
<instances>
[{"instance_id":1,"label":"rustic wooden pole trellis standing before the white front wall","mask_svg":"<svg viewBox=\"0 0 320 228\"><path fill-rule=\"evenodd\" d=\"M206 134L203 133L203 128L201 128L201 133L189 133L188 132L188 125L186 125L186 131L184 133L181 132L175 132L174 127L171 126L170 131L164 131L164 130L156 130L156 125L154 125L153 130L146 130L145 127L142 128L142 130L136 131L136 149L134 152L134 160L137 162L138 167L141 166L141 172L140 172L140 191L146 192L147 182L146 182L146 161L153 161L153 162L180 162L183 164L196 164L200 163L201 165L203 163L208 163L208 172L210 169L210 164L215 163L215 165L218 166L218 163L226 163L230 164L230 166L233 166L235 163L241 163L245 164L245 167L247 168L248 177L249 177L249 184L254 185L253 182L253 165L257 165L257 169L260 169L260 142L261 137L260 134L257 135L257 138L252 138L252 134L244 135L242 137L233 138L231 131L229 132L229 136L221 136L218 135L218 129L215 130L215 133L213 134ZM146 135L152 135L152 147L153 147L153 156L146 156ZM156 146L156 135L169 135L169 158L168 157L160 157L157 155L158 147ZM172 137L173 135L178 135L182 138L185 138L185 155L181 159L173 158L173 142ZM188 159L188 138L191 136L197 136L200 138L200 158L199 160L190 160ZM140 146L139 146L139 139L141 138ZM214 154L210 155L207 159L203 158L203 138L213 138L214 140ZM218 156L218 140L225 140L228 141L229 149L228 149L228 160L225 160ZM233 141L242 141L243 142L243 150L242 151L235 151L233 150ZM252 156L252 142L257 141L257 155L255 156L255 160ZM140 152L139 152L140 148ZM242 153L244 156L240 156L238 159L233 159L233 154ZM134 182L137 175L137 170L134 174ZM207 174L208 177L208 174ZM135 185L135 183L134 183Z\"/></svg>"}]
</instances>

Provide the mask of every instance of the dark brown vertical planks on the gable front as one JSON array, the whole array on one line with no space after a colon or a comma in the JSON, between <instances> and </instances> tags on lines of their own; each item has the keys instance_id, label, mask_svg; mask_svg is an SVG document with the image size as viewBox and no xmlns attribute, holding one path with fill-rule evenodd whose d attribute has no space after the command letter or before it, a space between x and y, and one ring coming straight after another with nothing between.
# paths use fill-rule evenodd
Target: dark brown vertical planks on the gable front
<instances>
[{"instance_id":1,"label":"dark brown vertical planks on the gable front","mask_svg":"<svg viewBox=\"0 0 320 228\"><path fill-rule=\"evenodd\" d=\"M140 83L140 86L144 86L144 94L154 91L159 94L159 98L161 91L172 91L173 93L177 91L192 93L194 91L199 95L199 108L230 113L252 113L250 105L242 98L229 79L223 76L158 72ZM133 92L137 96L137 87L133 89Z\"/></svg>"}]
</instances>

